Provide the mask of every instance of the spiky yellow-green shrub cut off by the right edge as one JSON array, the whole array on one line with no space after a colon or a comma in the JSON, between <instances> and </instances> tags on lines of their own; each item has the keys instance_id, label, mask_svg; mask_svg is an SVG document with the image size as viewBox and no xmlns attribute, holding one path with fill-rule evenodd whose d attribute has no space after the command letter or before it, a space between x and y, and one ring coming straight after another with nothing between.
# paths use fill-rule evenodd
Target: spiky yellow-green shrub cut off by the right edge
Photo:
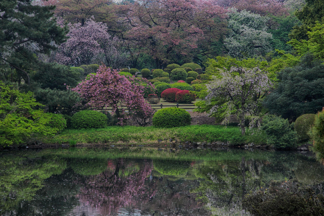
<instances>
[{"instance_id":1,"label":"spiky yellow-green shrub cut off by the right edge","mask_svg":"<svg viewBox=\"0 0 324 216\"><path fill-rule=\"evenodd\" d=\"M324 164L324 110L318 112L315 117L314 126L309 131L308 135L310 136L313 142L312 151L315 152L316 159Z\"/></svg>"}]
</instances>

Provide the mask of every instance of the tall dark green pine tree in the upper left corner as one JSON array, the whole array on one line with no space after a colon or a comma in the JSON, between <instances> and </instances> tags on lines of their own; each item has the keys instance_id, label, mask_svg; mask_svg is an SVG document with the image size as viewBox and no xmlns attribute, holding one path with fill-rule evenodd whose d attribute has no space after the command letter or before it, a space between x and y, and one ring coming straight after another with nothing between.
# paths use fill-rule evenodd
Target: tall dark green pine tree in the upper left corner
<instances>
[{"instance_id":1,"label":"tall dark green pine tree in the upper left corner","mask_svg":"<svg viewBox=\"0 0 324 216\"><path fill-rule=\"evenodd\" d=\"M37 55L55 50L57 44L64 42L66 33L53 18L55 6L31 3L32 0L0 2L0 68L14 68L27 84L29 74L40 66Z\"/></svg>"}]
</instances>

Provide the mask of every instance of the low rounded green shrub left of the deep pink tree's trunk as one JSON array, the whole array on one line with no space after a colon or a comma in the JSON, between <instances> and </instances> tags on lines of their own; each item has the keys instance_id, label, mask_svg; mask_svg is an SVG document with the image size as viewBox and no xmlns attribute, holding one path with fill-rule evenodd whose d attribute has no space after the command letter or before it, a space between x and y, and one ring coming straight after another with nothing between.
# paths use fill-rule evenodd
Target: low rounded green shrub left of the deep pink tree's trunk
<instances>
[{"instance_id":1,"label":"low rounded green shrub left of the deep pink tree's trunk","mask_svg":"<svg viewBox=\"0 0 324 216\"><path fill-rule=\"evenodd\" d=\"M95 110L82 110L71 117L74 128L100 128L107 126L107 116Z\"/></svg>"}]
</instances>

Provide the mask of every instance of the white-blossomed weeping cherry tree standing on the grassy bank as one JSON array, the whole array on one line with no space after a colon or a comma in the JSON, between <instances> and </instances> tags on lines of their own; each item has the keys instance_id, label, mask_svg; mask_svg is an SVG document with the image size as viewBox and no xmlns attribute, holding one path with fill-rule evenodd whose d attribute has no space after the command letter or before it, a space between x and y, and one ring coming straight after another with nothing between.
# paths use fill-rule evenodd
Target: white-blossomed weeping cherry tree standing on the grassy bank
<instances>
[{"instance_id":1,"label":"white-blossomed weeping cherry tree standing on the grassy bank","mask_svg":"<svg viewBox=\"0 0 324 216\"><path fill-rule=\"evenodd\" d=\"M207 103L213 101L210 114L222 116L223 124L227 124L229 117L235 115L244 135L245 120L250 120L250 126L257 122L258 104L271 89L272 82L266 72L258 67L248 69L233 66L229 70L224 69L219 76L213 76L206 87L208 95L205 100Z\"/></svg>"}]
</instances>

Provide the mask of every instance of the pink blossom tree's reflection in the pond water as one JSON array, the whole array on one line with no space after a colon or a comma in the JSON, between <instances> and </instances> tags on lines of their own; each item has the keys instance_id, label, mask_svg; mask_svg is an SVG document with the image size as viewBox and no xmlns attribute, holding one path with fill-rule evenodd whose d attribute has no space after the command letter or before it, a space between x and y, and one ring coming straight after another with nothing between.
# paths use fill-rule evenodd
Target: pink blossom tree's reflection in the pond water
<instances>
[{"instance_id":1,"label":"pink blossom tree's reflection in the pond water","mask_svg":"<svg viewBox=\"0 0 324 216\"><path fill-rule=\"evenodd\" d=\"M148 202L155 194L154 187L145 185L153 165L145 161L138 172L128 176L120 175L121 167L127 167L123 159L114 164L108 162L108 169L99 175L90 176L78 195L80 202L91 208L100 209L102 215L111 214L118 208ZM114 168L114 169L113 169Z\"/></svg>"}]
</instances>

